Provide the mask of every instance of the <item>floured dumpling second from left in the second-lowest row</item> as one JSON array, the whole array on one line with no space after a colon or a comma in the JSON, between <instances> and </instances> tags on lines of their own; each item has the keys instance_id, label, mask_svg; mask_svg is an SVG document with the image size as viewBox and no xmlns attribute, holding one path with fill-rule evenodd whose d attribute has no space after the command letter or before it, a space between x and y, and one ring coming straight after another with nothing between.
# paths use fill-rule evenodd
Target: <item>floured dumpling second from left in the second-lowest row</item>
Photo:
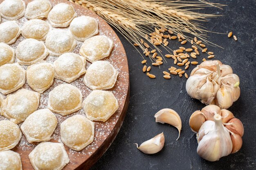
<instances>
[{"instance_id":1,"label":"floured dumpling second from left in the second-lowest row","mask_svg":"<svg viewBox=\"0 0 256 170\"><path fill-rule=\"evenodd\" d=\"M29 143L49 141L57 126L57 119L49 109L32 113L20 126Z\"/></svg>"}]
</instances>

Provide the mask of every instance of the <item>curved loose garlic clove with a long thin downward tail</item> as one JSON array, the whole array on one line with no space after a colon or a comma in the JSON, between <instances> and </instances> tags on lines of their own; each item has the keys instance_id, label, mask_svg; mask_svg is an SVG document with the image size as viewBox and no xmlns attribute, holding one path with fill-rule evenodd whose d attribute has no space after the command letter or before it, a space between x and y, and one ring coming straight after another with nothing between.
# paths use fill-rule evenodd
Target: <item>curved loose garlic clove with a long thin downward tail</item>
<instances>
[{"instance_id":1,"label":"curved loose garlic clove with a long thin downward tail","mask_svg":"<svg viewBox=\"0 0 256 170\"><path fill-rule=\"evenodd\" d=\"M168 123L175 126L179 131L179 136L177 138L179 139L182 123L180 116L176 111L168 108L159 110L157 113L155 113L155 122Z\"/></svg>"}]
</instances>

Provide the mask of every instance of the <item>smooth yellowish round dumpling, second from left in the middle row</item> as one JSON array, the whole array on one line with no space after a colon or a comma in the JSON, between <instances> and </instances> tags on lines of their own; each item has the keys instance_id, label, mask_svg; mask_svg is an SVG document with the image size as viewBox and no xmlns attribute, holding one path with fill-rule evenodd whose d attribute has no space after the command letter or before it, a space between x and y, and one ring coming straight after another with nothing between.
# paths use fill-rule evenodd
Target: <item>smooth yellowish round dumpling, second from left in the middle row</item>
<instances>
[{"instance_id":1,"label":"smooth yellowish round dumpling, second from left in the middle row","mask_svg":"<svg viewBox=\"0 0 256 170\"><path fill-rule=\"evenodd\" d=\"M43 93L53 80L54 68L51 63L40 61L27 67L27 84L36 92Z\"/></svg>"}]
</instances>

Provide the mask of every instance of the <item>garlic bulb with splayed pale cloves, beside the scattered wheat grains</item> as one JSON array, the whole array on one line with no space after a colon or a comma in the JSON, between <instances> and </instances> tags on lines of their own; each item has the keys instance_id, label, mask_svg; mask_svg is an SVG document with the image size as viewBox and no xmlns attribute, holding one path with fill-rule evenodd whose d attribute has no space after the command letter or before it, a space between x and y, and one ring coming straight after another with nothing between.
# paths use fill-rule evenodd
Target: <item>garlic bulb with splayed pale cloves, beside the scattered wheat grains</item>
<instances>
[{"instance_id":1,"label":"garlic bulb with splayed pale cloves, beside the scattered wheat grains","mask_svg":"<svg viewBox=\"0 0 256 170\"><path fill-rule=\"evenodd\" d=\"M229 65L218 60L204 61L191 72L186 91L206 105L229 108L240 96L239 77Z\"/></svg>"}]
</instances>

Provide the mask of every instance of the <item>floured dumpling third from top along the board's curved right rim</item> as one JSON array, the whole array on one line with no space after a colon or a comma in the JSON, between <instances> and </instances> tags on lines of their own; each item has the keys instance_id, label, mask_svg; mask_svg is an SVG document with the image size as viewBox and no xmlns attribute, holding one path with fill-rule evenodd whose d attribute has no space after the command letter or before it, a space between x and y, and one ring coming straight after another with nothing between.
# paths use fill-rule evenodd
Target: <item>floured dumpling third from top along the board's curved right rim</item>
<instances>
[{"instance_id":1,"label":"floured dumpling third from top along the board's curved right rim","mask_svg":"<svg viewBox=\"0 0 256 170\"><path fill-rule=\"evenodd\" d=\"M108 57L113 48L113 41L104 35L97 35L84 41L80 55L90 62Z\"/></svg>"}]
</instances>

